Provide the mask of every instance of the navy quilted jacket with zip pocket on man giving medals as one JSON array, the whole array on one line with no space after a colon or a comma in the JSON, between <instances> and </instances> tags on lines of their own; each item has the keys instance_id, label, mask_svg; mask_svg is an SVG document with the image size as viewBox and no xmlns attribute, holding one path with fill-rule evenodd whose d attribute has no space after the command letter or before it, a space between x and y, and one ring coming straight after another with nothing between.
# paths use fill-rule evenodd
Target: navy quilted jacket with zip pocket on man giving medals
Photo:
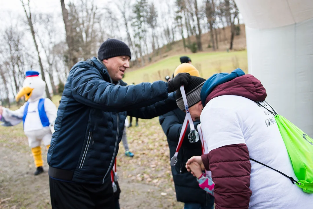
<instances>
[{"instance_id":1,"label":"navy quilted jacket with zip pocket on man giving medals","mask_svg":"<svg viewBox=\"0 0 313 209\"><path fill-rule=\"evenodd\" d=\"M50 177L103 184L110 178L127 114L154 118L177 108L175 94L167 93L163 81L119 84L112 84L105 65L95 57L73 66L48 151Z\"/></svg>"}]
</instances>

